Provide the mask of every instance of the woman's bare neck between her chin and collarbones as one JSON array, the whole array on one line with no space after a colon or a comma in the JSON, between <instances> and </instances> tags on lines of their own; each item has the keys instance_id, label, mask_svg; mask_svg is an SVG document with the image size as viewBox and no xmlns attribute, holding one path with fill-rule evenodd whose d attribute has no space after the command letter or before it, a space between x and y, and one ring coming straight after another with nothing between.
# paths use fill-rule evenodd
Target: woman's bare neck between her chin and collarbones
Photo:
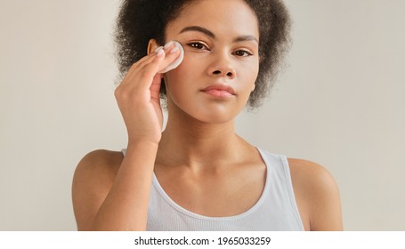
<instances>
[{"instance_id":1,"label":"woman's bare neck between her chin and collarbones","mask_svg":"<svg viewBox=\"0 0 405 249\"><path fill-rule=\"evenodd\" d=\"M159 143L158 161L162 159L160 162L165 165L207 169L237 161L246 146L247 142L235 133L233 119L222 124L207 124L169 116Z\"/></svg>"}]
</instances>

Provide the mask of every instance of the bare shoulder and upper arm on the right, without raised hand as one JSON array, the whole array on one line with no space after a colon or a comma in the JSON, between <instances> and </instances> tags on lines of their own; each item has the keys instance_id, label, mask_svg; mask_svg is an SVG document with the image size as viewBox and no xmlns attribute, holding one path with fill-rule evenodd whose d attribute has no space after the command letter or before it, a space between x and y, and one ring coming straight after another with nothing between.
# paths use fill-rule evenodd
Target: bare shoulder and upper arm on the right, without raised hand
<instances>
[{"instance_id":1,"label":"bare shoulder and upper arm on the right, without raised hand","mask_svg":"<svg viewBox=\"0 0 405 249\"><path fill-rule=\"evenodd\" d=\"M288 158L288 164L305 229L343 229L339 189L332 174L304 159Z\"/></svg>"}]
</instances>

